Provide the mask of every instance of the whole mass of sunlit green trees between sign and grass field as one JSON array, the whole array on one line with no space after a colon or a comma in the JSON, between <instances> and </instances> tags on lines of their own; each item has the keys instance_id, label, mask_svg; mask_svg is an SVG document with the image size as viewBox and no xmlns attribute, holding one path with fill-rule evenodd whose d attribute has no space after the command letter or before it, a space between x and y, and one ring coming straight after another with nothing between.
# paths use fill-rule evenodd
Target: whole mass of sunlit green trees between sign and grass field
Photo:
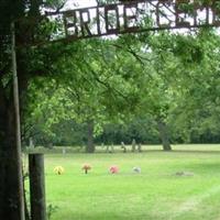
<instances>
[{"instance_id":1,"label":"whole mass of sunlit green trees between sign and grass field","mask_svg":"<svg viewBox=\"0 0 220 220\"><path fill-rule=\"evenodd\" d=\"M81 43L54 80L30 84L25 144L218 143L219 40L202 29Z\"/></svg>"}]
</instances>

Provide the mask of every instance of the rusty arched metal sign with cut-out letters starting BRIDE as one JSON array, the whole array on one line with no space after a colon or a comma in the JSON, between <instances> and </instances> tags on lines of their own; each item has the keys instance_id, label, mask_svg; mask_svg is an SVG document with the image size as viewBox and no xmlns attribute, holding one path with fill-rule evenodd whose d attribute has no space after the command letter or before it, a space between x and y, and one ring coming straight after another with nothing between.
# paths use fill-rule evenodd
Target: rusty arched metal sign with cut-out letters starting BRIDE
<instances>
[{"instance_id":1,"label":"rusty arched metal sign with cut-out letters starting BRIDE","mask_svg":"<svg viewBox=\"0 0 220 220\"><path fill-rule=\"evenodd\" d=\"M220 25L220 0L134 0L47 12L59 24L52 41Z\"/></svg>"}]
</instances>

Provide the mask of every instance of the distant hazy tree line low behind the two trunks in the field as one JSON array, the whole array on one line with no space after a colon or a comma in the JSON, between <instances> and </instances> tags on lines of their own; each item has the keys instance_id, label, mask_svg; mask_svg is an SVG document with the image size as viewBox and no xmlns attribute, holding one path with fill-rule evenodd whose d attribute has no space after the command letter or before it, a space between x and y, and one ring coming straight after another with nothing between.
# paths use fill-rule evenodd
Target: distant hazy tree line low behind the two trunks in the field
<instances>
[{"instance_id":1,"label":"distant hazy tree line low behind the two trunks in the field","mask_svg":"<svg viewBox=\"0 0 220 220\"><path fill-rule=\"evenodd\" d=\"M219 143L219 131L211 131L209 128L196 128L187 138L178 133L178 128L169 128L170 144L182 143ZM34 127L35 134L32 140L35 146L86 146L88 141L87 124L77 123L73 120L61 121L52 127L51 133L41 130L41 125ZM95 145L117 144L121 142L131 144L132 140L142 144L161 144L157 127L152 119L134 119L127 124L109 123L105 124L101 132L94 135ZM24 146L29 146L30 139L23 141Z\"/></svg>"}]
</instances>

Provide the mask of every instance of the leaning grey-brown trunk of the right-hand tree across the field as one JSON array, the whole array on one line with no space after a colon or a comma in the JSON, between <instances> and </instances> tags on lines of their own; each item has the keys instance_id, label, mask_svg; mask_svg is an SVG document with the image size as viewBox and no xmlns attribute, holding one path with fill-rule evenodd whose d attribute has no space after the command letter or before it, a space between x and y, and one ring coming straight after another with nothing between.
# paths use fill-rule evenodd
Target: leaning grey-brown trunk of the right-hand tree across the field
<instances>
[{"instance_id":1,"label":"leaning grey-brown trunk of the right-hand tree across the field","mask_svg":"<svg viewBox=\"0 0 220 220\"><path fill-rule=\"evenodd\" d=\"M164 151L172 151L166 123L163 120L158 119L157 125L158 125L160 136L161 136L161 140L162 140L163 150Z\"/></svg>"}]
</instances>

